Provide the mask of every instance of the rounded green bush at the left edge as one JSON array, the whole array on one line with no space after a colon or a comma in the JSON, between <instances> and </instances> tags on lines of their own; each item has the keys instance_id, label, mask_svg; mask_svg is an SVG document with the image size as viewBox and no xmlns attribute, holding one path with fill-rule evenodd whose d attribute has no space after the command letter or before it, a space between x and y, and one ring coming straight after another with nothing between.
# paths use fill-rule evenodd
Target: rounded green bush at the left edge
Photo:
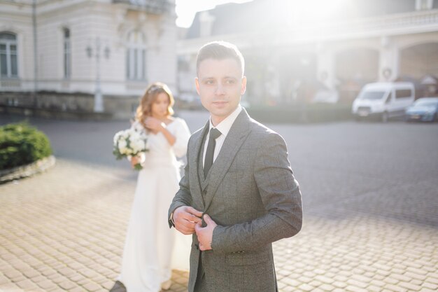
<instances>
[{"instance_id":1,"label":"rounded green bush at the left edge","mask_svg":"<svg viewBox=\"0 0 438 292\"><path fill-rule=\"evenodd\" d=\"M52 154L50 141L27 123L0 127L0 169L27 165Z\"/></svg>"}]
</instances>

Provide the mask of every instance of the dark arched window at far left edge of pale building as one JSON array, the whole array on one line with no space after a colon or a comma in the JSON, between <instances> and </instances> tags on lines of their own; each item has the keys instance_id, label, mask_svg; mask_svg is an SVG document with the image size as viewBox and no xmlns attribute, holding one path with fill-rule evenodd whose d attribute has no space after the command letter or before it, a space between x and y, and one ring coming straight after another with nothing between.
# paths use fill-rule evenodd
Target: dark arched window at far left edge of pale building
<instances>
[{"instance_id":1,"label":"dark arched window at far left edge of pale building","mask_svg":"<svg viewBox=\"0 0 438 292\"><path fill-rule=\"evenodd\" d=\"M0 33L0 75L18 77L17 36L8 32Z\"/></svg>"}]
</instances>

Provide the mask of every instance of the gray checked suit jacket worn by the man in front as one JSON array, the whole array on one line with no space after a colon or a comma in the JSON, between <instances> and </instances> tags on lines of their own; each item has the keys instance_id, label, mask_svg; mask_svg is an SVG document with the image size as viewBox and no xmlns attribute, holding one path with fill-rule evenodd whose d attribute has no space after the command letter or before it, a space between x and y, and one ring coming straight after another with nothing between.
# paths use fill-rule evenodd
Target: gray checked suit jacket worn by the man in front
<instances>
[{"instance_id":1,"label":"gray checked suit jacket worn by the man in front","mask_svg":"<svg viewBox=\"0 0 438 292\"><path fill-rule=\"evenodd\" d=\"M213 250L202 251L208 292L276 291L271 243L296 235L302 226L301 193L285 141L243 109L206 183L202 183L199 153L208 130L206 123L190 137L185 176L169 216L177 207L192 206L218 223L213 231ZM190 253L190 292L196 283L198 246L195 234Z\"/></svg>"}]
</instances>

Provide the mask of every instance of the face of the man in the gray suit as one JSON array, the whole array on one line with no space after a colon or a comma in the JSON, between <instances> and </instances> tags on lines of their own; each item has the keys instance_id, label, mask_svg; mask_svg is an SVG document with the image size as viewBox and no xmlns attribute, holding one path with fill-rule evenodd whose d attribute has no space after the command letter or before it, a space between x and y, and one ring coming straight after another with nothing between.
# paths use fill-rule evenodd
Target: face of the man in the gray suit
<instances>
[{"instance_id":1,"label":"face of the man in the gray suit","mask_svg":"<svg viewBox=\"0 0 438 292\"><path fill-rule=\"evenodd\" d=\"M199 64L196 90L216 126L232 113L246 90L246 77L234 59L206 59Z\"/></svg>"}]
</instances>

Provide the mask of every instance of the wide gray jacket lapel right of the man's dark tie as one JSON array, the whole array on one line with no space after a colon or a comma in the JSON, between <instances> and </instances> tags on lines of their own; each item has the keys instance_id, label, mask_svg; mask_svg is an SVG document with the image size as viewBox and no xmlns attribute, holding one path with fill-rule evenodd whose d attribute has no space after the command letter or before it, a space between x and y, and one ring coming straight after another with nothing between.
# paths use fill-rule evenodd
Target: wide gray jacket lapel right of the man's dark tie
<instances>
[{"instance_id":1,"label":"wide gray jacket lapel right of the man's dark tie","mask_svg":"<svg viewBox=\"0 0 438 292\"><path fill-rule=\"evenodd\" d=\"M246 113L245 109L242 109L229 130L224 144L222 145L222 148L220 148L220 153L211 166L209 175L206 177L206 181L208 181L209 184L208 193L210 195L205 199L204 210L209 209L211 200L214 195L216 195L216 190L218 189L220 182L231 166L239 148L241 148L246 137L248 137L248 134L250 133L249 125L250 121L248 113Z\"/></svg>"}]
</instances>

